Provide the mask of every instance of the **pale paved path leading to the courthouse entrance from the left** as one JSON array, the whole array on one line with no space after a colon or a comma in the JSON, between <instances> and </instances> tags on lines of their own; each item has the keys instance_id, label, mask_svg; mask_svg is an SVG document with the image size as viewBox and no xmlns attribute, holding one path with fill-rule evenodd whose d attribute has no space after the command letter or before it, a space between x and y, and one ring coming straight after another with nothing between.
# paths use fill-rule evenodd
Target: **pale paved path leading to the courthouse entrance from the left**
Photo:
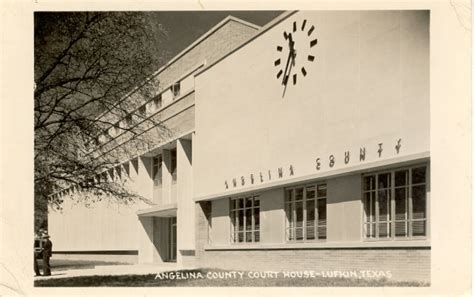
<instances>
[{"instance_id":1,"label":"pale paved path leading to the courthouse entrance from the left","mask_svg":"<svg viewBox=\"0 0 474 297\"><path fill-rule=\"evenodd\" d=\"M91 275L141 275L176 270L175 263L136 264L136 265L100 265L88 269L52 270L51 276L35 276L35 280L58 279Z\"/></svg>"}]
</instances>

